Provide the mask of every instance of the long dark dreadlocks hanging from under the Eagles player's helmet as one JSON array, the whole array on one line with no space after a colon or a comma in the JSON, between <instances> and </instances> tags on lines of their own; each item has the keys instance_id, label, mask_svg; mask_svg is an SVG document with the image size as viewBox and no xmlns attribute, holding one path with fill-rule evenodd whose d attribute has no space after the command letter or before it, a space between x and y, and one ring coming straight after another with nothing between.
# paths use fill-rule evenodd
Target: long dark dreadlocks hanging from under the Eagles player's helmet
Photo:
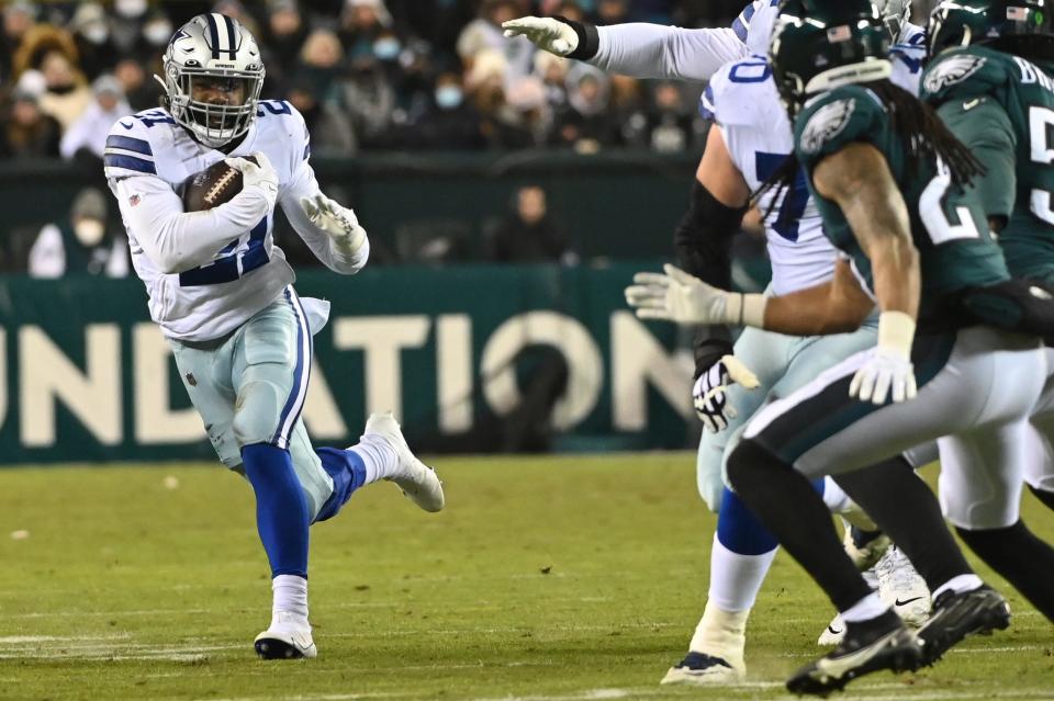
<instances>
[{"instance_id":1,"label":"long dark dreadlocks hanging from under the Eagles player's helmet","mask_svg":"<svg viewBox=\"0 0 1054 701\"><path fill-rule=\"evenodd\" d=\"M940 158L951 171L952 182L958 188L967 186L975 177L984 174L985 167L944 126L930 105L888 80L877 80L861 83L861 86L875 93L889 114L890 125L907 150L909 172L918 170L922 159ZM775 189L776 196L772 199L769 211L764 213L765 218L772 214L783 191L794 184L798 171L798 160L792 154L753 194L756 201L760 195Z\"/></svg>"}]
</instances>

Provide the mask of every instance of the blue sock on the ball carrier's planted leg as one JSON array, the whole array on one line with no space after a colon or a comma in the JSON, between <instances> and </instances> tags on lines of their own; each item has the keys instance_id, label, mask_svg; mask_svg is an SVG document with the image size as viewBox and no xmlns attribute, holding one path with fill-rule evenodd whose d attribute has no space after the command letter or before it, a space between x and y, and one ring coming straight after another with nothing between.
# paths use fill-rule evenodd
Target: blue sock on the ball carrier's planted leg
<instances>
[{"instance_id":1,"label":"blue sock on the ball carrier's planted leg","mask_svg":"<svg viewBox=\"0 0 1054 701\"><path fill-rule=\"evenodd\" d=\"M245 475L256 493L256 528L271 577L307 577L307 499L289 451L268 443L242 449Z\"/></svg>"}]
</instances>

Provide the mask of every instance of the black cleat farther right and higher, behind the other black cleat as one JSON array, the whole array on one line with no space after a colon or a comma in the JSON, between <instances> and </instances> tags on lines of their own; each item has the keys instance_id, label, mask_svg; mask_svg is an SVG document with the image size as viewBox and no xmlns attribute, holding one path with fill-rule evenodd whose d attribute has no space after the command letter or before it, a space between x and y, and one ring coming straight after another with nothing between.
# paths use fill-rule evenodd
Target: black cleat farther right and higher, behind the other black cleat
<instances>
[{"instance_id":1,"label":"black cleat farther right and higher, behind the other black cleat","mask_svg":"<svg viewBox=\"0 0 1054 701\"><path fill-rule=\"evenodd\" d=\"M922 664L932 665L971 635L990 635L1009 626L1010 604L988 585L957 593L944 591L933 602L930 620L918 632Z\"/></svg>"}]
</instances>

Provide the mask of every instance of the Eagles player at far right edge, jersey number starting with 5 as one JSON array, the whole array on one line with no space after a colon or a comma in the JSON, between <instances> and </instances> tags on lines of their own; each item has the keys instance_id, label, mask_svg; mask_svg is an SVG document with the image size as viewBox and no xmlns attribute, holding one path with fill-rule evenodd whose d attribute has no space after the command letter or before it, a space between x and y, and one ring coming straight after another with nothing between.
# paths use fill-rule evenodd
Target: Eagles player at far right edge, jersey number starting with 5
<instances>
[{"instance_id":1,"label":"Eagles player at far right edge, jersey number starting with 5","mask_svg":"<svg viewBox=\"0 0 1054 701\"><path fill-rule=\"evenodd\" d=\"M977 189L1011 274L1049 289L1054 286L1052 27L1054 15L1042 0L941 2L930 19L932 58L922 83L923 99L986 166ZM1050 351L1047 358L1050 363ZM1045 396L1032 427L1022 428L1031 460L1006 467L1023 470L1022 482L1054 508L1052 409ZM1054 572L1054 550L1021 521L1016 490L1003 495L1003 510L976 518L975 505L984 495L963 478L971 472L956 455L942 462L941 498L949 519L974 552L1054 620L1054 587L1045 581Z\"/></svg>"}]
</instances>

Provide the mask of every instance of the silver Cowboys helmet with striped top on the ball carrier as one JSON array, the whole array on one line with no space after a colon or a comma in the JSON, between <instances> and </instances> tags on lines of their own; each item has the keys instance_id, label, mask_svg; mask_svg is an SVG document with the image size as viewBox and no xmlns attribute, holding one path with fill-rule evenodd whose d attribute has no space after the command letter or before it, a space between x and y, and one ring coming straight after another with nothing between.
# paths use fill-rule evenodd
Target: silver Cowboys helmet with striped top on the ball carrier
<instances>
[{"instance_id":1,"label":"silver Cowboys helmet with striped top on the ball carrier","mask_svg":"<svg viewBox=\"0 0 1054 701\"><path fill-rule=\"evenodd\" d=\"M194 138L220 148L248 131L264 86L264 60L237 20L199 14L172 36L162 66L165 78L158 80L165 106Z\"/></svg>"}]
</instances>

